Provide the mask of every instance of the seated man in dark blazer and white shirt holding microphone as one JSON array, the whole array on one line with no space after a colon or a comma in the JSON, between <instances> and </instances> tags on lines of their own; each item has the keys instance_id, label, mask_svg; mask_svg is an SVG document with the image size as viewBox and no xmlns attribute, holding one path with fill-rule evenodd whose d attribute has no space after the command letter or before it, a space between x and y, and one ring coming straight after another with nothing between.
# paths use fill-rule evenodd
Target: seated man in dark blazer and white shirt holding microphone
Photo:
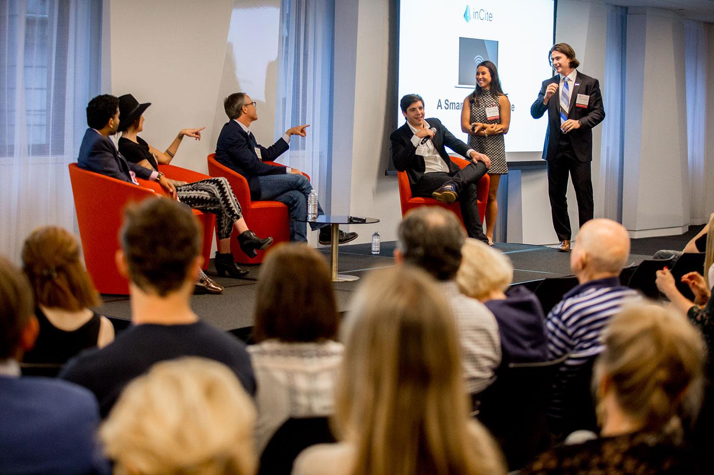
<instances>
[{"instance_id":1,"label":"seated man in dark blazer and white shirt holding microphone","mask_svg":"<svg viewBox=\"0 0 714 475\"><path fill-rule=\"evenodd\" d=\"M424 100L418 94L407 94L399 105L406 123L389 137L395 168L406 171L413 195L446 203L458 200L468 236L488 242L476 207L476 183L486 174L491 160L468 148L437 118L425 120ZM451 161L444 145L470 158L471 163L462 170Z\"/></svg>"}]
</instances>

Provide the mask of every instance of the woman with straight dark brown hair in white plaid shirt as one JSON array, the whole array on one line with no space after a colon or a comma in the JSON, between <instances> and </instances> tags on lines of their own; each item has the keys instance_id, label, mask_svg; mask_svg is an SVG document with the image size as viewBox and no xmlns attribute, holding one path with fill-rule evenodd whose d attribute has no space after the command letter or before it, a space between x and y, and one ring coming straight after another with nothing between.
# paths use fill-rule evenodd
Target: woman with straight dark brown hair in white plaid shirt
<instances>
[{"instance_id":1,"label":"woman with straight dark brown hair in white plaid shirt","mask_svg":"<svg viewBox=\"0 0 714 475\"><path fill-rule=\"evenodd\" d=\"M306 279L305 270L310 270ZM335 292L325 257L306 244L281 244L268 252L256 293L248 347L256 375L256 449L260 454L291 417L326 417L343 345L337 337Z\"/></svg>"}]
</instances>

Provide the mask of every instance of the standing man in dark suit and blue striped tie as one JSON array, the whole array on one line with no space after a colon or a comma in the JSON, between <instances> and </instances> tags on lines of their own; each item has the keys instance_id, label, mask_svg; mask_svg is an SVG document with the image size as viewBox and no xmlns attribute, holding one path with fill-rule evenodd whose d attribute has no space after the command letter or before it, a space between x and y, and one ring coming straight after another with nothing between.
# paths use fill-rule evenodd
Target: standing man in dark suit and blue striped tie
<instances>
[{"instance_id":1,"label":"standing man in dark suit and blue striped tie","mask_svg":"<svg viewBox=\"0 0 714 475\"><path fill-rule=\"evenodd\" d=\"M543 159L548 161L548 196L553 228L558 235L560 252L570 252L568 174L573 178L578 200L580 226L593 219L593 127L603 121L603 96L597 79L575 68L580 61L573 48L558 43L550 48L550 63L558 73L543 81L538 98L531 106L531 116L540 118L548 111Z\"/></svg>"}]
</instances>

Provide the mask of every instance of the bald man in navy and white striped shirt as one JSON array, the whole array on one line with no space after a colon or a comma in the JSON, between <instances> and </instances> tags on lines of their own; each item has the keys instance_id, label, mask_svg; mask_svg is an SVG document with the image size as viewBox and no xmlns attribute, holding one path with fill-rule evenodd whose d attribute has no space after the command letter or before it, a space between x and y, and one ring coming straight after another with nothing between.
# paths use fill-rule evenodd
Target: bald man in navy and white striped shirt
<instances>
[{"instance_id":1,"label":"bald man in navy and white striped shirt","mask_svg":"<svg viewBox=\"0 0 714 475\"><path fill-rule=\"evenodd\" d=\"M638 292L620 285L620 272L629 255L630 236L620 223L596 219L580 228L570 253L570 270L580 283L545 317L550 359L567 355L558 367L549 410L555 427L560 422L568 424L563 420L568 419L568 414L563 414L565 404L570 403L564 400L569 394L568 382L603 351L600 334L610 317L640 299Z\"/></svg>"}]
</instances>

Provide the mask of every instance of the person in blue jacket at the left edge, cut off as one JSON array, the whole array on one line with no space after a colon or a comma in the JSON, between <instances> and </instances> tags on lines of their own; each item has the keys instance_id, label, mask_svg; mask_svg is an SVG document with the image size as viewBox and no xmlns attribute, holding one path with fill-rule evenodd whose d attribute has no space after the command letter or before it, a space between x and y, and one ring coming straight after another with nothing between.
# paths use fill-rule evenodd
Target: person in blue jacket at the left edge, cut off
<instances>
[{"instance_id":1,"label":"person in blue jacket at the left edge, cut off","mask_svg":"<svg viewBox=\"0 0 714 475\"><path fill-rule=\"evenodd\" d=\"M86 389L20 376L39 332L29 282L0 257L0 473L110 473L94 437L99 406Z\"/></svg>"}]
</instances>

